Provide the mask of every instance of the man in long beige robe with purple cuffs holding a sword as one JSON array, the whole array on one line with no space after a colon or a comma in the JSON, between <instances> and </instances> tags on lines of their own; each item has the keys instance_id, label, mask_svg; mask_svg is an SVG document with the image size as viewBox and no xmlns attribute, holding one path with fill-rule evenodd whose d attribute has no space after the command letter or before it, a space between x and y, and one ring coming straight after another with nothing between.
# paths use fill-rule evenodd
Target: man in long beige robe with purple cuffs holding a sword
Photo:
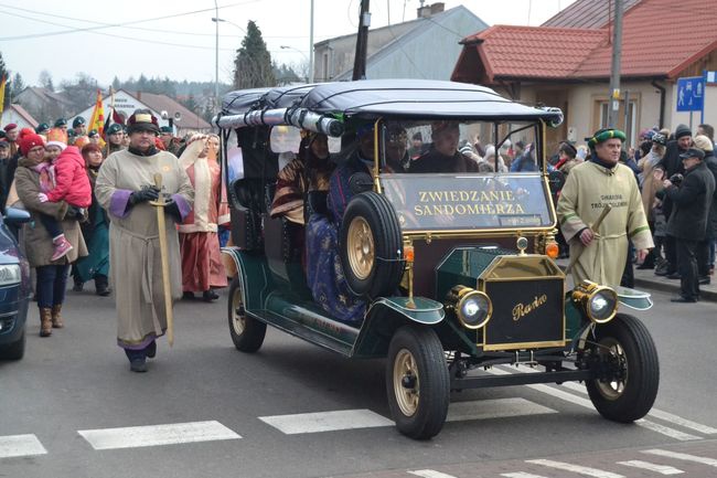
<instances>
[{"instance_id":1,"label":"man in long beige robe with purple cuffs holding a sword","mask_svg":"<svg viewBox=\"0 0 717 478\"><path fill-rule=\"evenodd\" d=\"M133 372L147 371L157 353L154 340L167 330L157 210L149 204L164 194L165 232L173 299L182 296L176 224L190 213L194 190L174 155L154 146L157 118L137 110L128 120L129 148L105 160L95 183L99 204L110 216L109 258L117 305L117 343ZM154 174L162 174L162 190Z\"/></svg>"}]
</instances>

